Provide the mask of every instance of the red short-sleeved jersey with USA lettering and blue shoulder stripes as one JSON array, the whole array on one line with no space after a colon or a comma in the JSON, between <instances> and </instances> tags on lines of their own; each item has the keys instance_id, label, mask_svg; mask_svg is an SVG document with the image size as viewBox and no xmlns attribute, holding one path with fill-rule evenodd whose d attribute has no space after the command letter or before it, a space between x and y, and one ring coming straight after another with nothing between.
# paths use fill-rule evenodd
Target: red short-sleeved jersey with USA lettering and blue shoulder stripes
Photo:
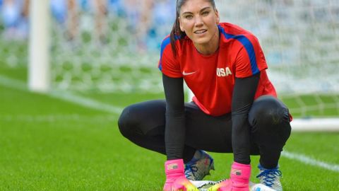
<instances>
[{"instance_id":1,"label":"red short-sleeved jersey with USA lettering and blue shoulder stripes","mask_svg":"<svg viewBox=\"0 0 339 191\"><path fill-rule=\"evenodd\" d=\"M208 115L231 112L235 78L246 78L261 72L255 98L277 96L266 74L267 64L258 39L249 31L231 23L220 23L219 49L210 55L196 50L189 37L176 40L174 57L170 38L161 45L159 69L172 78L184 78L194 93L193 101Z\"/></svg>"}]
</instances>

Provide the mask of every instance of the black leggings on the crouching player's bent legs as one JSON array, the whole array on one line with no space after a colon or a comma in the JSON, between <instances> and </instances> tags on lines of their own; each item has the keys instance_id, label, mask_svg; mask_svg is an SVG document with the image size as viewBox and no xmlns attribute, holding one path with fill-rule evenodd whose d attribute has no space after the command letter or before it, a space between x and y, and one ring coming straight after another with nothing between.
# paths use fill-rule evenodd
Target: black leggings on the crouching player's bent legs
<instances>
[{"instance_id":1,"label":"black leggings on the crouching player's bent legs","mask_svg":"<svg viewBox=\"0 0 339 191\"><path fill-rule=\"evenodd\" d=\"M136 103L125 108L119 118L121 134L145 149L165 152L165 100ZM184 161L190 161L197 149L232 153L231 114L206 115L195 103L185 103L186 137ZM275 168L280 152L290 137L287 107L273 96L256 99L249 111L251 155L259 155L261 166Z\"/></svg>"}]
</instances>

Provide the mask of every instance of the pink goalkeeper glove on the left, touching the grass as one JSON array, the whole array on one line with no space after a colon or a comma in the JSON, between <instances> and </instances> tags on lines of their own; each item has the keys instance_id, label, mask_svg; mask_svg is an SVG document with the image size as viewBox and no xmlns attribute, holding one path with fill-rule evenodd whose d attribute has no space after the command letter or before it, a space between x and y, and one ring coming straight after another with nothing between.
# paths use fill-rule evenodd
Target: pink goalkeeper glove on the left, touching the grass
<instances>
[{"instance_id":1,"label":"pink goalkeeper glove on the left, touching the grass","mask_svg":"<svg viewBox=\"0 0 339 191\"><path fill-rule=\"evenodd\" d=\"M164 191L198 191L184 174L184 161L182 159L165 162L166 183Z\"/></svg>"}]
</instances>

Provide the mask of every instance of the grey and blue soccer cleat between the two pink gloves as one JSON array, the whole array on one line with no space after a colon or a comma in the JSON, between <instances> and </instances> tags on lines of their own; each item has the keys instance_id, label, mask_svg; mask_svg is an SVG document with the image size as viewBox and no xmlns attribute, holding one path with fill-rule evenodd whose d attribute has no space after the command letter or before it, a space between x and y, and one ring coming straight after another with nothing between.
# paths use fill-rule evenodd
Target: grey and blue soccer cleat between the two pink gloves
<instances>
[{"instance_id":1,"label":"grey and blue soccer cleat between the two pink gloves","mask_svg":"<svg viewBox=\"0 0 339 191\"><path fill-rule=\"evenodd\" d=\"M197 150L191 161L185 164L185 176L189 180L203 180L214 170L213 158L205 151Z\"/></svg>"}]
</instances>

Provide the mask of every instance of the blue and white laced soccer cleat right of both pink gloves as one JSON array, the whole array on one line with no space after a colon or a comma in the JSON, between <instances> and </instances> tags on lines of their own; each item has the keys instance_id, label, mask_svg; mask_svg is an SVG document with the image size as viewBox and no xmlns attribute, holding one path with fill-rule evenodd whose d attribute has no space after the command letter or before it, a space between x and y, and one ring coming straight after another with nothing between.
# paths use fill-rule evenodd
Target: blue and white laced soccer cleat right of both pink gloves
<instances>
[{"instance_id":1,"label":"blue and white laced soccer cleat right of both pink gloves","mask_svg":"<svg viewBox=\"0 0 339 191\"><path fill-rule=\"evenodd\" d=\"M272 169L263 168L260 164L258 165L260 170L259 175L256 178L259 178L260 183L271 187L273 190L283 191L283 186L280 183L280 178L282 173L279 170L279 166Z\"/></svg>"}]
</instances>

